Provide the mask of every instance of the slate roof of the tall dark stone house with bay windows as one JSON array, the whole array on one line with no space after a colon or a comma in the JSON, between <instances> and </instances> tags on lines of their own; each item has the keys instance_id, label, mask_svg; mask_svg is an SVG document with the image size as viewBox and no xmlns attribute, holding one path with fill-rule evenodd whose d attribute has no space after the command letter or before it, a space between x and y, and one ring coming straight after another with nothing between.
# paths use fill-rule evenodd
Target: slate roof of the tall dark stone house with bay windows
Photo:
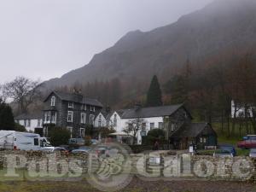
<instances>
[{"instance_id":1,"label":"slate roof of the tall dark stone house with bay windows","mask_svg":"<svg viewBox=\"0 0 256 192\"><path fill-rule=\"evenodd\" d=\"M92 105L96 107L102 108L103 105L101 102L97 101L96 99L90 99L87 97L84 97L80 94L72 94L72 93L66 93L59 90L54 90L53 93L55 93L56 96L59 96L61 100L67 101L67 102L79 102L82 104ZM49 94L50 96L50 94ZM48 96L48 97L49 97ZM48 97L44 100L44 102L48 99Z\"/></svg>"}]
</instances>

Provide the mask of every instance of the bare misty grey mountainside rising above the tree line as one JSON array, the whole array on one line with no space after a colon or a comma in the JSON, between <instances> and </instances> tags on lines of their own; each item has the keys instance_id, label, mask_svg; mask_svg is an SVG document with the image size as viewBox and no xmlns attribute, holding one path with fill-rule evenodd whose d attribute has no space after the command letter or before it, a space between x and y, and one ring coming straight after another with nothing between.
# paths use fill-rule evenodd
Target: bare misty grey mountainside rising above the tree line
<instances>
[{"instance_id":1,"label":"bare misty grey mountainside rising above the tree line","mask_svg":"<svg viewBox=\"0 0 256 192\"><path fill-rule=\"evenodd\" d=\"M128 32L113 47L94 55L89 64L44 85L54 89L115 78L147 82L154 74L164 82L188 60L201 68L217 58L214 65L218 65L247 52L254 54L255 48L256 1L217 0L171 25Z\"/></svg>"}]
</instances>

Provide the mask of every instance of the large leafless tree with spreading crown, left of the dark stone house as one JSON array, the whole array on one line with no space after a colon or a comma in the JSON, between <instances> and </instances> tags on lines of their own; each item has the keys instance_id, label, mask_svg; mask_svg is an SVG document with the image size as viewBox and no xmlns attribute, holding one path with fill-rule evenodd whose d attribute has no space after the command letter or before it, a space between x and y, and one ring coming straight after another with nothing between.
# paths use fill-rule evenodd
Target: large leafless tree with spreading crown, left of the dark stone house
<instances>
[{"instance_id":1,"label":"large leafless tree with spreading crown, left of the dark stone house","mask_svg":"<svg viewBox=\"0 0 256 192\"><path fill-rule=\"evenodd\" d=\"M39 86L39 81L16 77L2 85L3 97L13 99L18 104L19 113L26 113L33 100L40 95Z\"/></svg>"}]
</instances>

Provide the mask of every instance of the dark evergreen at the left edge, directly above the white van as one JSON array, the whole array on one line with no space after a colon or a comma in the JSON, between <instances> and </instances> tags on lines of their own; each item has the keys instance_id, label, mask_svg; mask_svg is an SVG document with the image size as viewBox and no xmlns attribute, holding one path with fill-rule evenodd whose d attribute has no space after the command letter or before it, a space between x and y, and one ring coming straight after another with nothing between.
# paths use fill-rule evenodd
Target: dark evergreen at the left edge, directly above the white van
<instances>
[{"instance_id":1,"label":"dark evergreen at the left edge, directly above the white van","mask_svg":"<svg viewBox=\"0 0 256 192\"><path fill-rule=\"evenodd\" d=\"M0 103L0 130L15 130L13 111L6 103Z\"/></svg>"}]
</instances>

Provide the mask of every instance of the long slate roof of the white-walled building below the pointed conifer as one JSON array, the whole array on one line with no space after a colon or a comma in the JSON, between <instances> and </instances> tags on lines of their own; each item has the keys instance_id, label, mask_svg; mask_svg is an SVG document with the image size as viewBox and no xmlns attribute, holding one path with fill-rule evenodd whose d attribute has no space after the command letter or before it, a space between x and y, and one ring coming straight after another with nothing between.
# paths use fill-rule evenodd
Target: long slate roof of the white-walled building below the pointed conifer
<instances>
[{"instance_id":1,"label":"long slate roof of the white-walled building below the pointed conifer","mask_svg":"<svg viewBox=\"0 0 256 192\"><path fill-rule=\"evenodd\" d=\"M132 108L126 109L122 112L122 119L136 119L136 118L149 118L149 117L164 117L170 116L172 113L175 113L177 109L182 108L183 104L170 105L170 106L161 106L154 108Z\"/></svg>"}]
</instances>

